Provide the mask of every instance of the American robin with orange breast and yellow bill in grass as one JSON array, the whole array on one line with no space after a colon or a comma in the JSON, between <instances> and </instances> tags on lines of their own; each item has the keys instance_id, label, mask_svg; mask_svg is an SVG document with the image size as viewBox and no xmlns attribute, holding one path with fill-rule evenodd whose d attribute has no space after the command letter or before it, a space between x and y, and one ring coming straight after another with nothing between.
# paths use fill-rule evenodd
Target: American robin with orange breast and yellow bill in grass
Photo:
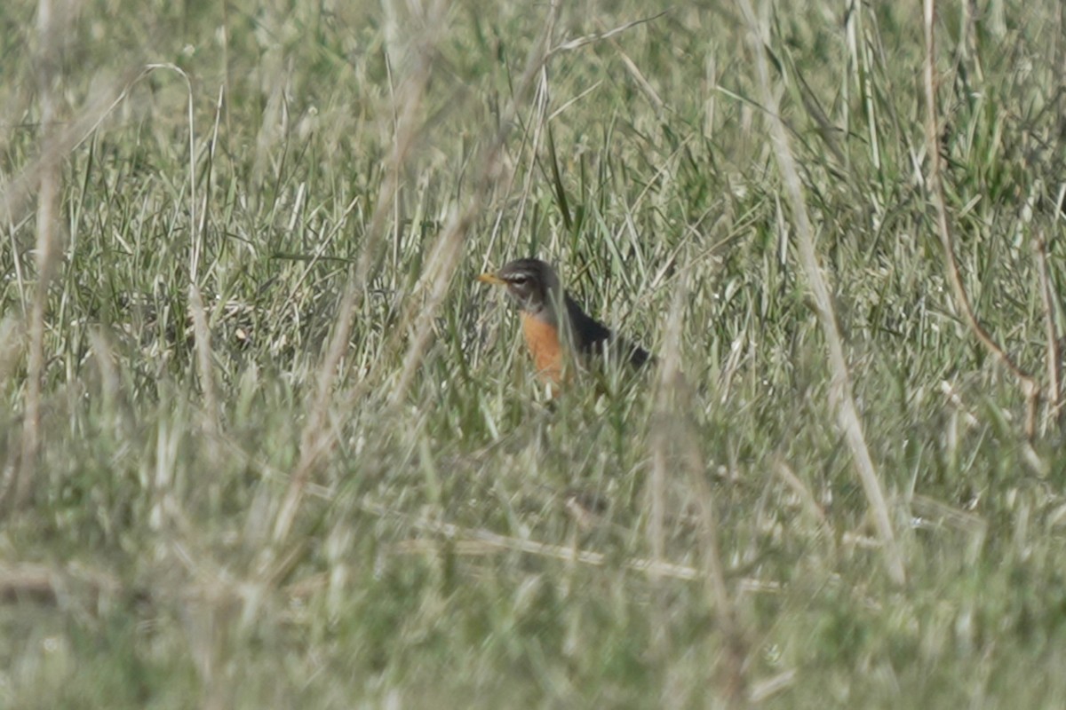
<instances>
[{"instance_id":1,"label":"American robin with orange breast and yellow bill in grass","mask_svg":"<svg viewBox=\"0 0 1066 710\"><path fill-rule=\"evenodd\" d=\"M634 367L651 361L644 348L626 342L585 314L563 290L555 269L539 259L508 262L495 274L482 274L483 283L506 286L521 309L522 335L540 379L560 385L566 348L580 357L611 353Z\"/></svg>"}]
</instances>

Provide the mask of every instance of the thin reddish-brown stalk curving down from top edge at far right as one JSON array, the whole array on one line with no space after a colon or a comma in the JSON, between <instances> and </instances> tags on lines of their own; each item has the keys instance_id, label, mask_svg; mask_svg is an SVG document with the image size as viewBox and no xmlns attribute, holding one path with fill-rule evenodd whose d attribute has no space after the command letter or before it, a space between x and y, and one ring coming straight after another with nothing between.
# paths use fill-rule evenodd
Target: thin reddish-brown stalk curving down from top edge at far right
<instances>
[{"instance_id":1,"label":"thin reddish-brown stalk curving down from top edge at far right","mask_svg":"<svg viewBox=\"0 0 1066 710\"><path fill-rule=\"evenodd\" d=\"M963 312L963 317L973 334L976 335L985 349L1006 367L1018 380L1022 395L1025 397L1025 435L1032 440L1036 431L1036 402L1040 396L1039 385L1028 373L1019 367L1014 360L1000 347L991 334L985 330L978 316L973 313L970 298L963 284L963 277L959 273L958 261L955 259L954 240L951 235L951 226L948 221L948 204L943 196L942 158L940 156L940 130L937 117L937 71L935 66L936 56L936 0L924 0L924 24L925 24L925 66L924 66L924 88L925 88L925 152L928 155L928 175L925 177L933 198L933 205L936 208L936 225L940 236L940 245L943 247L943 257L948 270L948 280L951 282L951 291L955 297L955 304Z\"/></svg>"}]
</instances>

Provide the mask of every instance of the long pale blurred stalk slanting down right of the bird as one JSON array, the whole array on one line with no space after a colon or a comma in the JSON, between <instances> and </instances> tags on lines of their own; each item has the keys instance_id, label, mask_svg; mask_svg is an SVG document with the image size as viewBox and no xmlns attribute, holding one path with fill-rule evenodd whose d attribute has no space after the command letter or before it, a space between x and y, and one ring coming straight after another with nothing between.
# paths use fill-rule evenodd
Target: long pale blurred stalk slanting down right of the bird
<instances>
[{"instance_id":1,"label":"long pale blurred stalk slanting down right of the bird","mask_svg":"<svg viewBox=\"0 0 1066 710\"><path fill-rule=\"evenodd\" d=\"M895 541L888 505L885 501L881 480L877 478L877 472L870 457L866 435L862 431L862 423L859 419L858 409L855 406L851 375L847 370L847 361L844 358L843 341L840 335L840 329L837 326L837 315L833 308L833 299L829 296L829 286L822 276L818 263L818 254L814 251L813 228L810 224L810 217L807 214L807 204L804 201L803 186L800 182L800 174L796 170L795 158L789 146L785 123L780 118L777 97L770 86L770 68L763 47L762 26L756 18L755 11L752 9L748 0L739 0L739 4L750 30L752 51L755 54L759 88L766 112L766 120L770 123L774 154L777 159L778 169L781 172L781 181L785 185L789 205L792 208L796 229L796 246L800 251L800 265L810 286L811 297L814 301L819 323L822 326L822 333L825 337L826 348L828 349L828 365L833 376L829 387L829 404L836 411L837 425L844 433L844 440L847 442L847 446L852 452L856 474L862 483L862 490L866 493L867 502L870 506L870 512L873 515L877 536L881 540L885 555L885 567L893 582L903 584L906 581L903 557Z\"/></svg>"}]
</instances>

